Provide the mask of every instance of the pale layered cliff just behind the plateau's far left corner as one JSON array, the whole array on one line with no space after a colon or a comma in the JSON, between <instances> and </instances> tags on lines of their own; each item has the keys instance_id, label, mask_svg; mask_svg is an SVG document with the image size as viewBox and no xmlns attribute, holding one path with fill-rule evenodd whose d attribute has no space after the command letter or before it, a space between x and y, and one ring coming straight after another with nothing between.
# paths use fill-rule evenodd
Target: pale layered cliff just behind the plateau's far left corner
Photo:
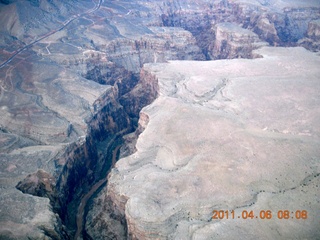
<instances>
[{"instance_id":1,"label":"pale layered cliff just behind the plateau's far left corner","mask_svg":"<svg viewBox=\"0 0 320 240\"><path fill-rule=\"evenodd\" d=\"M139 73L144 63L168 60L204 60L192 34L182 28L150 27L152 32L137 39L110 42L103 52L117 65Z\"/></svg>"}]
</instances>

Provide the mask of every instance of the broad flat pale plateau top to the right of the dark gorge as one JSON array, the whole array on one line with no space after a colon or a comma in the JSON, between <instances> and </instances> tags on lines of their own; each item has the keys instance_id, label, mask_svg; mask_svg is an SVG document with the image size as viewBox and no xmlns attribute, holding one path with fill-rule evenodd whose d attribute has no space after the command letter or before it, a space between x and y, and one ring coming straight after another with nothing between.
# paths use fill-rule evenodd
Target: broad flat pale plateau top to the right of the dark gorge
<instances>
[{"instance_id":1,"label":"broad flat pale plateau top to the right of the dark gorge","mask_svg":"<svg viewBox=\"0 0 320 240\"><path fill-rule=\"evenodd\" d=\"M160 95L143 109L137 152L108 183L133 238L320 237L320 57L302 48L256 54L145 65ZM235 219L213 220L213 210ZM245 210L254 219L242 219ZM272 218L259 219L262 210ZM298 210L307 219L294 219Z\"/></svg>"}]
</instances>

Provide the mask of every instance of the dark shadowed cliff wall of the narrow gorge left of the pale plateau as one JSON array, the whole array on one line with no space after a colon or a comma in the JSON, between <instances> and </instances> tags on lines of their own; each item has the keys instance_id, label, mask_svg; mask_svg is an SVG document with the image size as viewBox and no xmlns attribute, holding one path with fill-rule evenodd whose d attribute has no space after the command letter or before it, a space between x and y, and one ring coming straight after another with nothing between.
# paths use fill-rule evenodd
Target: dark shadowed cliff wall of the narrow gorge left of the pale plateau
<instances>
[{"instance_id":1,"label":"dark shadowed cliff wall of the narrow gorge left of the pale plateau","mask_svg":"<svg viewBox=\"0 0 320 240\"><path fill-rule=\"evenodd\" d=\"M131 79L121 79L122 87ZM70 146L57 160L63 166L53 195L56 212L60 213L69 230L76 229L77 206L81 196L99 180L105 178L112 165L112 149L121 144L125 134L135 130L141 108L156 97L156 83L139 81L134 87L119 94L117 87L98 98L97 110L88 119L88 134Z\"/></svg>"}]
</instances>

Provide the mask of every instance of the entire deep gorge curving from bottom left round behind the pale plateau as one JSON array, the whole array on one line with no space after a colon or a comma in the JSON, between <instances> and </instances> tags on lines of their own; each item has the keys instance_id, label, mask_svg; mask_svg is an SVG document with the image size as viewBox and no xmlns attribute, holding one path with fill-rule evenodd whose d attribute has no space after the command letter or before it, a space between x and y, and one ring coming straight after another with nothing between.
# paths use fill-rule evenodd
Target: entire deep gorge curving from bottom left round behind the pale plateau
<instances>
[{"instance_id":1,"label":"entire deep gorge curving from bottom left round behind the pale plateau","mask_svg":"<svg viewBox=\"0 0 320 240\"><path fill-rule=\"evenodd\" d=\"M155 4L154 12L150 13L155 20L148 25L152 31L142 34L139 39L119 37L105 40L103 44L90 39L88 49L85 44L81 45L86 50L85 54L70 54L64 58L58 54L48 55L50 61L61 65L66 71L110 87L95 100L91 115L84 119L88 126L85 135L68 143L64 152L57 155L54 160L55 172L49 174L39 170L17 185L24 193L50 199L52 210L57 214L57 224L55 232L42 229L46 236L73 239L78 230L77 212L83 196L95 184L107 178L112 168L113 154L124 157L135 151L134 143L143 131L139 125L140 111L159 94L157 79L143 69L145 63L254 58L257 56L251 54L252 50L263 44L301 45L312 51L319 48L315 44L318 38L312 39L317 28L307 33L309 26L305 24L320 17L317 9L304 9L304 13L299 9L269 13L263 7L219 1L214 4L204 2L198 9L186 10L187 3L166 1ZM229 32L228 26L220 25L222 22L241 26L259 37ZM104 24L111 23L108 20ZM111 25L108 27L115 28ZM221 35L217 34L218 30ZM67 44L69 40L64 37L62 42ZM237 45L234 42L241 46L234 47ZM72 125L66 134L78 135ZM119 146L119 152L114 153ZM34 176L42 180L30 188L28 179ZM81 232L84 239L94 239L94 235L87 231L85 221L90 211L89 205L101 188L85 206ZM107 224L103 228L108 231L110 238L130 239L132 236L128 232L123 209L112 202L112 197L107 198L109 202L103 209L122 230L118 234L114 229L109 229Z\"/></svg>"}]
</instances>

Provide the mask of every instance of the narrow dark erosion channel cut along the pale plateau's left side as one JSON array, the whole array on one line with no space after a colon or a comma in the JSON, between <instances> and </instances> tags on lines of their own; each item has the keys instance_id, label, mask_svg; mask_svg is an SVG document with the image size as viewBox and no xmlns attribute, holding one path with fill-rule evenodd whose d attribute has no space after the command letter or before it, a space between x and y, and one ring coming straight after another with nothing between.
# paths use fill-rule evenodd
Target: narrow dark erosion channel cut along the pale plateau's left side
<instances>
[{"instance_id":1,"label":"narrow dark erosion channel cut along the pale plateau's left side","mask_svg":"<svg viewBox=\"0 0 320 240\"><path fill-rule=\"evenodd\" d=\"M106 184L110 168L119 157L120 148L126 152L123 154L130 154L130 150L125 149L127 144L131 143L126 142L124 136L130 133L138 136L139 112L157 95L155 79L150 81L139 76L129 76L128 79L121 78L121 86L118 87L116 82L112 87L113 91L118 91L112 96L118 97L111 101L104 100L107 104L101 100L103 107L92 117L89 123L90 134L85 142L75 148L71 147L70 152L62 157L67 164L57 182L52 202L67 228L68 235L74 235L74 239L83 234L88 203ZM126 83L130 85L134 82L136 83L133 86L127 86L126 89ZM143 91L140 91L141 89Z\"/></svg>"}]
</instances>

